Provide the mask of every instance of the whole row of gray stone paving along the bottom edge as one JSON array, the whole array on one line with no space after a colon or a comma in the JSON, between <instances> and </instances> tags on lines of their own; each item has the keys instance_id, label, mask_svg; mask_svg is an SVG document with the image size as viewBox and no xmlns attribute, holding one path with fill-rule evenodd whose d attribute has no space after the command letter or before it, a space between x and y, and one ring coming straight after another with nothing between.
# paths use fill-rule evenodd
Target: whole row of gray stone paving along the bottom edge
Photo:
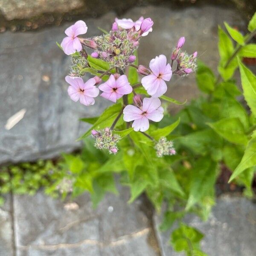
<instances>
[{"instance_id":1,"label":"whole row of gray stone paving along the bottom edge","mask_svg":"<svg viewBox=\"0 0 256 256\"><path fill-rule=\"evenodd\" d=\"M129 190L119 188L119 195L108 194L93 210L87 194L72 202L42 191L15 195L13 201L8 196L0 207L0 255L183 255L169 246L170 231L158 231L161 218L154 215L152 221L143 198L133 204L128 199ZM209 256L255 255L256 204L246 198L222 195L208 221L189 215L185 222L205 234L201 246Z\"/></svg>"}]
</instances>

